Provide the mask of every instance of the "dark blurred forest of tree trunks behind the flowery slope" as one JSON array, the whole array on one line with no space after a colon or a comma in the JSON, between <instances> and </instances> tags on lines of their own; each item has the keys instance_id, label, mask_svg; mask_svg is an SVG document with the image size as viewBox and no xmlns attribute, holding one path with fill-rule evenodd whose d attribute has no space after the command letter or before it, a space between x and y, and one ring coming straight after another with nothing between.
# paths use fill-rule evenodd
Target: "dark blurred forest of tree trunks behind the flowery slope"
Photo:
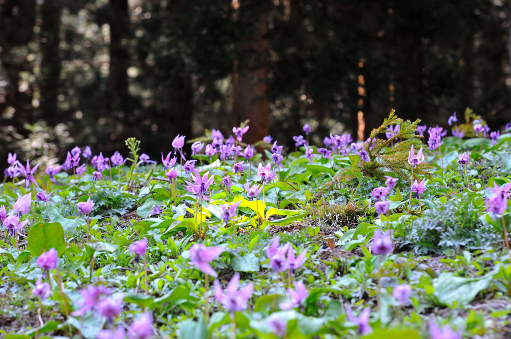
<instances>
[{"instance_id":1,"label":"dark blurred forest of tree trunks behind the flowery slope","mask_svg":"<svg viewBox=\"0 0 511 339\"><path fill-rule=\"evenodd\" d=\"M178 133L311 124L365 135L392 108L511 121L503 0L0 0L0 167L75 145L152 158ZM361 131L360 131L361 132Z\"/></svg>"}]
</instances>

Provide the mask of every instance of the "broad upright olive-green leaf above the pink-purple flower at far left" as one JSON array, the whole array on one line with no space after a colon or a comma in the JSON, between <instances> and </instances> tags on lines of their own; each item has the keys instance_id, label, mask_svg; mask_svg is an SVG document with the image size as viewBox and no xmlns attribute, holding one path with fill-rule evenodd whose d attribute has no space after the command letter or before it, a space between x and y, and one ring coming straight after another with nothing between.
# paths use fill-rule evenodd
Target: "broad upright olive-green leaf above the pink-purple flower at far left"
<instances>
[{"instance_id":1,"label":"broad upright olive-green leaf above the pink-purple flower at far left","mask_svg":"<svg viewBox=\"0 0 511 339\"><path fill-rule=\"evenodd\" d=\"M66 249L64 229L59 223L39 223L29 230L27 250L37 257L54 248L61 256Z\"/></svg>"}]
</instances>

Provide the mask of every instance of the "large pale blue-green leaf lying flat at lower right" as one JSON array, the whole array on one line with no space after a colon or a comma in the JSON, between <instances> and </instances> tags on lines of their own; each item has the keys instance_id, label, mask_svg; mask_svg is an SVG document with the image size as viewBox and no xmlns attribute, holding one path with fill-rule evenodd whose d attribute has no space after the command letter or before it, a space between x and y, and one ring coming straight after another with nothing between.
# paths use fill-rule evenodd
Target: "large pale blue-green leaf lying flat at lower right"
<instances>
[{"instance_id":1,"label":"large pale blue-green leaf lying flat at lower right","mask_svg":"<svg viewBox=\"0 0 511 339\"><path fill-rule=\"evenodd\" d=\"M487 274L479 278L456 277L450 272L444 272L433 281L434 296L446 306L459 306L469 304L474 297L488 286L492 275Z\"/></svg>"}]
</instances>

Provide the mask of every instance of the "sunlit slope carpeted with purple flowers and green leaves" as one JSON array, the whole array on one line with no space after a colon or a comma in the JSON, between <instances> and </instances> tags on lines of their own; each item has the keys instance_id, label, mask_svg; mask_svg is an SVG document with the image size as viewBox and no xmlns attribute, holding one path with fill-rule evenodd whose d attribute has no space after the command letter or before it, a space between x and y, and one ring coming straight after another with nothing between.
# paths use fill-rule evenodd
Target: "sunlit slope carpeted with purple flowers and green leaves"
<instances>
[{"instance_id":1,"label":"sunlit slope carpeted with purple flowers and green leaves","mask_svg":"<svg viewBox=\"0 0 511 339\"><path fill-rule=\"evenodd\" d=\"M511 124L458 118L391 112L319 148L306 125L289 152L243 124L161 159L134 138L45 168L10 155L0 334L509 337Z\"/></svg>"}]
</instances>

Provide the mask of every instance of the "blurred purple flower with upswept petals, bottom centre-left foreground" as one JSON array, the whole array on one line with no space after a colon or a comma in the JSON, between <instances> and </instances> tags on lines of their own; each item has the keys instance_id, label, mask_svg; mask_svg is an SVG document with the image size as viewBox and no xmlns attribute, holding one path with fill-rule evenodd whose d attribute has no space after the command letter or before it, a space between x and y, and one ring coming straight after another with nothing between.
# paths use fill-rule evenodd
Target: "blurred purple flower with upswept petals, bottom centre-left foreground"
<instances>
[{"instance_id":1,"label":"blurred purple flower with upswept petals, bottom centre-left foreground","mask_svg":"<svg viewBox=\"0 0 511 339\"><path fill-rule=\"evenodd\" d=\"M229 310L231 317L234 317L236 311L241 311L247 308L248 299L250 299L253 291L253 282L248 283L243 288L238 290L240 284L240 274L235 273L233 278L230 279L223 293L220 282L215 280L215 298L222 304L222 306Z\"/></svg>"}]
</instances>

